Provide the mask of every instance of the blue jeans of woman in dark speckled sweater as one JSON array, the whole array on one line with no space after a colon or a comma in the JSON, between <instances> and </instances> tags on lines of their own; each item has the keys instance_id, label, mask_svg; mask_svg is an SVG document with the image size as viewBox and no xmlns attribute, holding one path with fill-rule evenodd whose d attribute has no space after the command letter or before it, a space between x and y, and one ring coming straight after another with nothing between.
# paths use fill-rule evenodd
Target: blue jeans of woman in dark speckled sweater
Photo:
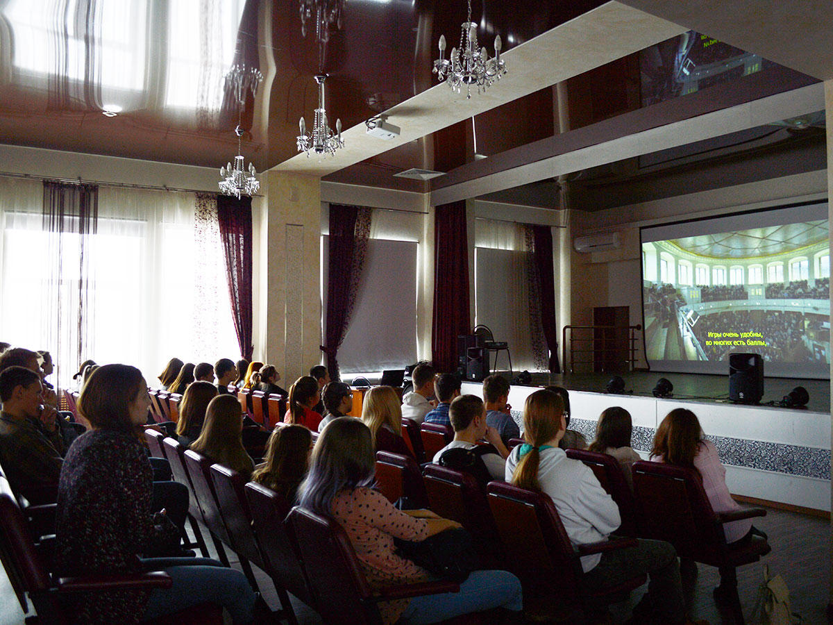
<instances>
[{"instance_id":1,"label":"blue jeans of woman in dark speckled sweater","mask_svg":"<svg viewBox=\"0 0 833 625\"><path fill-rule=\"evenodd\" d=\"M173 579L172 587L151 591L142 621L200 603L225 607L235 625L252 621L255 593L242 572L207 557L148 557L142 564L146 571L165 571Z\"/></svg>"}]
</instances>

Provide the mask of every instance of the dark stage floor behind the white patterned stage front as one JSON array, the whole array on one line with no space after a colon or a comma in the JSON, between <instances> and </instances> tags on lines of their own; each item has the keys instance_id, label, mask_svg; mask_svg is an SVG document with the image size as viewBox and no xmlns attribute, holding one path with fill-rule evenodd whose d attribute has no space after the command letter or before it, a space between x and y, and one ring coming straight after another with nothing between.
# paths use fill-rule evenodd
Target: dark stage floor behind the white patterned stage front
<instances>
[{"instance_id":1,"label":"dark stage floor behind the white patterned stage front","mask_svg":"<svg viewBox=\"0 0 833 625\"><path fill-rule=\"evenodd\" d=\"M517 372L515 372L517 375ZM571 391L604 393L612 373L532 373L532 385L554 384ZM633 395L652 397L656 381L666 378L674 385L675 399L691 399L697 402L726 402L729 398L729 377L701 373L660 373L654 371L633 371L621 374L625 390ZM798 386L807 389L810 402L807 410L814 413L830 413L830 380L801 380L794 378L764 378L764 397L761 404L771 400L781 401L787 393Z\"/></svg>"}]
</instances>

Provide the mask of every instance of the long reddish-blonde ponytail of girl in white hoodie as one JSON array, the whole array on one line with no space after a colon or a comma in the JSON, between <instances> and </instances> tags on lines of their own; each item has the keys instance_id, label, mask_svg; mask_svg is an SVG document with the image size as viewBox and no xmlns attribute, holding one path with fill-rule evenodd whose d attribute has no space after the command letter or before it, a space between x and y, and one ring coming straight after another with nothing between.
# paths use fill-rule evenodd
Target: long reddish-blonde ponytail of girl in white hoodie
<instances>
[{"instance_id":1,"label":"long reddish-blonde ponytail of girl in white hoodie","mask_svg":"<svg viewBox=\"0 0 833 625\"><path fill-rule=\"evenodd\" d=\"M541 462L541 445L556 438L561 431L561 417L564 415L564 402L552 391L536 391L526 398L523 410L523 438L532 446L529 453L512 473L515 486L532 491L540 491L538 482L538 465Z\"/></svg>"}]
</instances>

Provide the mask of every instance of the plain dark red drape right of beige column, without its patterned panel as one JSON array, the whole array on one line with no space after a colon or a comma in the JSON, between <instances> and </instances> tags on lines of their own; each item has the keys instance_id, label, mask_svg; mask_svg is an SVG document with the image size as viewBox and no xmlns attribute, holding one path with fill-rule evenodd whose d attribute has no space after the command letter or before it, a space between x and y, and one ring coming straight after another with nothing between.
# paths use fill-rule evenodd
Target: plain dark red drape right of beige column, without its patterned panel
<instances>
[{"instance_id":1,"label":"plain dark red drape right of beige column, without its patterned panel","mask_svg":"<svg viewBox=\"0 0 833 625\"><path fill-rule=\"evenodd\" d=\"M350 318L353 255L356 251L356 206L330 205L330 267L327 275L327 372L333 380L341 379L338 372L338 348L347 334ZM355 298L355 293L353 294Z\"/></svg>"}]
</instances>

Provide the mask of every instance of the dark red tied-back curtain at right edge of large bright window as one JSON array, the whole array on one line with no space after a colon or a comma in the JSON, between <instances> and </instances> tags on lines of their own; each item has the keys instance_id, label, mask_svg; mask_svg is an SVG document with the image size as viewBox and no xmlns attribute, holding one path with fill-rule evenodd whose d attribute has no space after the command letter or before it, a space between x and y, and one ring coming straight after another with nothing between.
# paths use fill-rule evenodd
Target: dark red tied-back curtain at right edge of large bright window
<instances>
[{"instance_id":1,"label":"dark red tied-back curtain at right edge of large bright window","mask_svg":"<svg viewBox=\"0 0 833 625\"><path fill-rule=\"evenodd\" d=\"M241 356L252 360L252 198L218 195L217 221L237 343Z\"/></svg>"}]
</instances>

